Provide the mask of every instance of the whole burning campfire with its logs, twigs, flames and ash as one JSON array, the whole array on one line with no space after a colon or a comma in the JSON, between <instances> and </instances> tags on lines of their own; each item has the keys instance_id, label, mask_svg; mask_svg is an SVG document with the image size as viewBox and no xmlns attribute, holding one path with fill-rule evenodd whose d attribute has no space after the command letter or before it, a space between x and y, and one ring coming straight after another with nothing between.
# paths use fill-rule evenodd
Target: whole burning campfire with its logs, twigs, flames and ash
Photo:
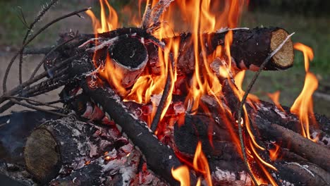
<instances>
[{"instance_id":1,"label":"whole burning campfire with its logs, twigs, flames and ash","mask_svg":"<svg viewBox=\"0 0 330 186\"><path fill-rule=\"evenodd\" d=\"M18 150L3 144L4 161L23 162L4 163L1 173L27 185L329 184L330 120L312 111L313 52L293 43L294 33L238 27L245 1L147 1L140 21L130 18L135 27L99 3L100 20L85 8L29 30L9 63L0 113L15 104L35 111L1 116L0 133L26 129L26 139L13 137ZM56 46L25 49L82 13L94 33L66 32ZM293 106L281 106L279 94L270 95L274 103L250 94L263 70L293 66L294 49L305 56L306 77ZM19 58L21 72L27 54L45 56L29 80L20 74L7 89L11 65ZM255 76L243 90L245 70ZM59 100L32 98L59 87Z\"/></svg>"}]
</instances>

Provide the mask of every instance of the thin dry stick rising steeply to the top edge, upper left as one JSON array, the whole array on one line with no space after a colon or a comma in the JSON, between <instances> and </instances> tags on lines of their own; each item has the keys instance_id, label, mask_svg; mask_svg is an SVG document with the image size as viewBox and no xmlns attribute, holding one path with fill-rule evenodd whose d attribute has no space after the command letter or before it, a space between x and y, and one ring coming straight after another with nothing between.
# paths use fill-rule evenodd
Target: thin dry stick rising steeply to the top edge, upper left
<instances>
[{"instance_id":1,"label":"thin dry stick rising steeply to the top edge, upper left","mask_svg":"<svg viewBox=\"0 0 330 186\"><path fill-rule=\"evenodd\" d=\"M33 21L33 23L31 23L30 26L27 27L27 32L25 34L25 37L24 37L23 43L22 43L23 45L25 44L27 37L30 35L30 32L31 32L32 28L35 27L35 24L39 20L41 20L41 18L47 13L47 11L49 11L51 6L56 4L57 1L59 1L59 0L51 0L50 4L47 4L47 6L44 6L42 8L42 11L39 12L38 16ZM22 15L23 15L23 13L22 13ZM18 67L18 80L20 81L20 84L22 84L22 64L23 64L23 51L24 51L24 49L25 49L25 47L23 47L22 51L20 51L20 63L19 63L19 67Z\"/></svg>"}]
</instances>

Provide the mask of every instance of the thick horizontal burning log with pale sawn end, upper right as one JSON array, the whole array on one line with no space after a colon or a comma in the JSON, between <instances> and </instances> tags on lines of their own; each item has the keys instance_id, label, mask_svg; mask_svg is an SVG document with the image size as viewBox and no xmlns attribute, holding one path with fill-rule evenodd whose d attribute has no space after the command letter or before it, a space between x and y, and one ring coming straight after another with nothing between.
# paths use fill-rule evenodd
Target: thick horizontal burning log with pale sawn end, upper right
<instances>
[{"instance_id":1,"label":"thick horizontal burning log with pale sawn end, upper right","mask_svg":"<svg viewBox=\"0 0 330 186\"><path fill-rule=\"evenodd\" d=\"M288 32L279 27L254 28L251 30L233 30L231 57L233 65L241 70L258 70L265 58L274 51L288 36ZM214 32L203 34L205 51L200 49L200 61L204 54L212 54L216 47L225 45L228 32ZM177 37L174 37L177 38ZM180 55L178 57L178 73L192 73L194 71L194 51L192 34L189 32L178 36L180 41ZM164 39L165 42L167 39ZM291 39L269 61L264 70L283 70L293 66L293 42Z\"/></svg>"}]
</instances>

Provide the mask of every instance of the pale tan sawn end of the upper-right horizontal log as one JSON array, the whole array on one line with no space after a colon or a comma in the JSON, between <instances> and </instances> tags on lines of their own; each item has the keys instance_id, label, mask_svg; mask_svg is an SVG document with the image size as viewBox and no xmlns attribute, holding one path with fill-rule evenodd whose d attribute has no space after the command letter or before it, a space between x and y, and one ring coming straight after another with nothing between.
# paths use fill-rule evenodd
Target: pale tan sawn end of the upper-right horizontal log
<instances>
[{"instance_id":1,"label":"pale tan sawn end of the upper-right horizontal log","mask_svg":"<svg viewBox=\"0 0 330 186\"><path fill-rule=\"evenodd\" d=\"M279 29L271 32L271 51L276 50L286 37L288 37L288 32L286 32L286 30ZM293 66L293 57L293 42L291 39L288 39L286 44L272 57L272 61L278 68L286 69Z\"/></svg>"}]
</instances>

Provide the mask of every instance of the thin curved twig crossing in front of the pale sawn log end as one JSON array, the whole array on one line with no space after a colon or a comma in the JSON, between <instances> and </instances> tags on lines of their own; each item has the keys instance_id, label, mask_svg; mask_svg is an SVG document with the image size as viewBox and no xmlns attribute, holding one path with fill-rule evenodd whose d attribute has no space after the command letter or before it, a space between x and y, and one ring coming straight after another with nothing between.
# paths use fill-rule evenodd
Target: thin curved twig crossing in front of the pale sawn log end
<instances>
[{"instance_id":1,"label":"thin curved twig crossing in front of the pale sawn log end","mask_svg":"<svg viewBox=\"0 0 330 186\"><path fill-rule=\"evenodd\" d=\"M250 93L253 85L255 84L255 81L257 80L259 74L261 73L261 71L264 69L264 67L267 65L267 63L270 61L271 57L274 56L282 47L283 45L288 41L288 39L294 35L295 32L293 32L291 35L288 35L288 37L286 37L286 39L284 39L284 41L279 45L279 47L277 47L274 51L271 52L271 54L269 54L269 56L267 56L267 58L264 59L264 61L262 62L262 65L260 66L259 70L257 71L257 73L255 73L255 75L253 76L249 86L247 87L247 91L245 92L245 94L243 95L242 100L240 101L240 106L238 107L238 113L237 113L237 120L238 120L238 135L240 136L240 149L242 150L242 154L243 154L243 159L244 159L244 163L245 166L247 167L247 172L250 174L253 182L255 183L255 185L257 184L257 180L255 180L255 176L252 174L249 165L247 163L247 157L245 154L245 146L244 146L244 142L243 142L243 135L242 135L242 126L240 125L240 121L242 120L242 110L243 110L243 106L245 104L247 95Z\"/></svg>"}]
</instances>

